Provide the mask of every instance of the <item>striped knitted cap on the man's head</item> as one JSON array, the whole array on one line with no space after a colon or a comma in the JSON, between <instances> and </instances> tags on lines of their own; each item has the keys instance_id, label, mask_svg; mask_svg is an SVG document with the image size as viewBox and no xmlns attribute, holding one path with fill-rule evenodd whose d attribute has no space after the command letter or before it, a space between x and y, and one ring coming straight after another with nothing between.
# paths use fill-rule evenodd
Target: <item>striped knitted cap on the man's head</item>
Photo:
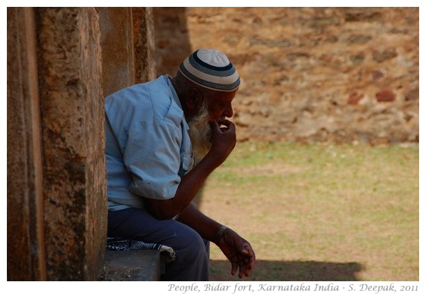
<instances>
[{"instance_id":1,"label":"striped knitted cap on the man's head","mask_svg":"<svg viewBox=\"0 0 426 295\"><path fill-rule=\"evenodd\" d=\"M179 72L195 84L216 91L234 91L240 85L234 65L218 50L197 50L181 63Z\"/></svg>"}]
</instances>

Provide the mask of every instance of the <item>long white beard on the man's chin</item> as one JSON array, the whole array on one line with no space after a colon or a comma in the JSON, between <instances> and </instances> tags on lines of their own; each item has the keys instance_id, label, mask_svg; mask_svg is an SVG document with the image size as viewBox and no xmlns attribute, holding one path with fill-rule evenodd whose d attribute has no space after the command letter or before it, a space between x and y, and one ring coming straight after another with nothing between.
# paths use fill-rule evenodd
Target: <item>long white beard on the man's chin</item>
<instances>
[{"instance_id":1,"label":"long white beard on the man's chin","mask_svg":"<svg viewBox=\"0 0 426 295\"><path fill-rule=\"evenodd\" d=\"M204 105L199 114L188 123L190 127L188 134L190 135L195 164L203 160L212 146L212 129L208 119L208 109Z\"/></svg>"}]
</instances>

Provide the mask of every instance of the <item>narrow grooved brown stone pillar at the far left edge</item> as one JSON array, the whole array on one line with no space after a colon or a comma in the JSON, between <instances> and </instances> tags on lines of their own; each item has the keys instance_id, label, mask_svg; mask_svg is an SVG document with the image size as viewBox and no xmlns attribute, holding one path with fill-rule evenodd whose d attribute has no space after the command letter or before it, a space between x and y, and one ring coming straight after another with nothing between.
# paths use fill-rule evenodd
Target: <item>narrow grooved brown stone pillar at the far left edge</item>
<instances>
[{"instance_id":1,"label":"narrow grooved brown stone pillar at the far left edge","mask_svg":"<svg viewBox=\"0 0 426 295\"><path fill-rule=\"evenodd\" d=\"M8 281L46 279L32 8L8 8Z\"/></svg>"}]
</instances>

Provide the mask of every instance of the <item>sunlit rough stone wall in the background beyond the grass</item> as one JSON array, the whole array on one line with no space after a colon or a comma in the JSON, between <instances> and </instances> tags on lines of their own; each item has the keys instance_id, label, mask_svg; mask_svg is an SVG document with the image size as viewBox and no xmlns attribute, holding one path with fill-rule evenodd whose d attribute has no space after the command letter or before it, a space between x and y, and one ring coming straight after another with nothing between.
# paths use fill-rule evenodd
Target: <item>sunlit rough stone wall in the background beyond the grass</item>
<instances>
[{"instance_id":1,"label":"sunlit rough stone wall in the background beyond the grass","mask_svg":"<svg viewBox=\"0 0 426 295\"><path fill-rule=\"evenodd\" d=\"M157 74L201 47L240 73L238 140L418 142L418 8L155 8Z\"/></svg>"}]
</instances>

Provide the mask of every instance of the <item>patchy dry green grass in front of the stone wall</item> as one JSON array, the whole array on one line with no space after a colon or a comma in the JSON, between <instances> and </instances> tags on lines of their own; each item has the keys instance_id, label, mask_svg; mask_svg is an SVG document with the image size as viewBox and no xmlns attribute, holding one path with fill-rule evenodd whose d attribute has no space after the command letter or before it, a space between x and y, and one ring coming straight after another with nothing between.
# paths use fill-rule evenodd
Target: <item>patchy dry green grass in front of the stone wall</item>
<instances>
[{"instance_id":1,"label":"patchy dry green grass in front of the stone wall","mask_svg":"<svg viewBox=\"0 0 426 295\"><path fill-rule=\"evenodd\" d=\"M243 143L201 210L256 252L250 280L418 281L418 145ZM212 247L212 279L234 280Z\"/></svg>"}]
</instances>

